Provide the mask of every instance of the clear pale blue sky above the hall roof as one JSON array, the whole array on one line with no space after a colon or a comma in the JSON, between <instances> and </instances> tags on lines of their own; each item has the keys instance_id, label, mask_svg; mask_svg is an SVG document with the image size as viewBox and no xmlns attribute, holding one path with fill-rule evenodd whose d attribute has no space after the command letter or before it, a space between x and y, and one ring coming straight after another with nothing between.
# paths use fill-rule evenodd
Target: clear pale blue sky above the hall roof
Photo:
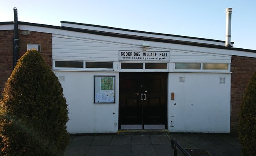
<instances>
[{"instance_id":1,"label":"clear pale blue sky above the hall roof","mask_svg":"<svg viewBox=\"0 0 256 156\"><path fill-rule=\"evenodd\" d=\"M0 0L0 22L60 21L225 41L232 8L234 47L256 50L256 0Z\"/></svg>"}]
</instances>

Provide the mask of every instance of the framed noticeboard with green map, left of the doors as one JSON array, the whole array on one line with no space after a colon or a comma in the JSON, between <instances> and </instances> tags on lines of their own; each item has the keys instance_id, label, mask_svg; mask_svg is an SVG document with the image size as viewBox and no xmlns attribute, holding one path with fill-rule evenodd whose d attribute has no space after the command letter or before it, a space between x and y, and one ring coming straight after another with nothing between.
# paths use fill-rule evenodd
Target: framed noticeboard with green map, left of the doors
<instances>
[{"instance_id":1,"label":"framed noticeboard with green map, left of the doors","mask_svg":"<svg viewBox=\"0 0 256 156\"><path fill-rule=\"evenodd\" d=\"M94 76L94 103L115 103L115 76Z\"/></svg>"}]
</instances>

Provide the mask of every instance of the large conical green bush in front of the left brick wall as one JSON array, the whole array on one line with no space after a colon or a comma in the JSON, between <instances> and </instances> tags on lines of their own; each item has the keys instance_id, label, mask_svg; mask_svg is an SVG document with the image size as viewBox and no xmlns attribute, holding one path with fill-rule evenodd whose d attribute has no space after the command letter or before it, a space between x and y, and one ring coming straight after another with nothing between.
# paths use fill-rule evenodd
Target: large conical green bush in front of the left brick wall
<instances>
[{"instance_id":1,"label":"large conical green bush in front of the left brick wall","mask_svg":"<svg viewBox=\"0 0 256 156\"><path fill-rule=\"evenodd\" d=\"M61 156L68 111L58 78L28 50L7 80L0 103L1 156Z\"/></svg>"}]
</instances>

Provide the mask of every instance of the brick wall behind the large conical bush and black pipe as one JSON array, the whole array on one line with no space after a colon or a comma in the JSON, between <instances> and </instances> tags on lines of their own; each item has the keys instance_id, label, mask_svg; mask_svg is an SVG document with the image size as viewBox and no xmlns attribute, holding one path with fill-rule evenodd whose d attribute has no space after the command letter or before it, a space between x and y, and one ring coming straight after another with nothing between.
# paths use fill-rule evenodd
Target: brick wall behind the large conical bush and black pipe
<instances>
[{"instance_id":1,"label":"brick wall behind the large conical bush and black pipe","mask_svg":"<svg viewBox=\"0 0 256 156\"><path fill-rule=\"evenodd\" d=\"M27 44L41 44L41 54L52 68L52 34L29 31L22 35L19 30L19 58L27 51ZM0 98L5 83L13 71L13 30L0 31Z\"/></svg>"}]
</instances>

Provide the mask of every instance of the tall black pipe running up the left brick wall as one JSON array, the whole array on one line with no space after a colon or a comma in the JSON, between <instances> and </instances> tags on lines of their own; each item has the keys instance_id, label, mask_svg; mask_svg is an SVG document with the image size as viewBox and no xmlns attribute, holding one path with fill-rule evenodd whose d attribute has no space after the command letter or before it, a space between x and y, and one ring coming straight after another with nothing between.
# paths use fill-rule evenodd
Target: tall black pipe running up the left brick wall
<instances>
[{"instance_id":1,"label":"tall black pipe running up the left brick wall","mask_svg":"<svg viewBox=\"0 0 256 156\"><path fill-rule=\"evenodd\" d=\"M13 68L15 67L19 56L19 36L18 36L18 11L13 8L14 13L14 39L13 39Z\"/></svg>"}]
</instances>

